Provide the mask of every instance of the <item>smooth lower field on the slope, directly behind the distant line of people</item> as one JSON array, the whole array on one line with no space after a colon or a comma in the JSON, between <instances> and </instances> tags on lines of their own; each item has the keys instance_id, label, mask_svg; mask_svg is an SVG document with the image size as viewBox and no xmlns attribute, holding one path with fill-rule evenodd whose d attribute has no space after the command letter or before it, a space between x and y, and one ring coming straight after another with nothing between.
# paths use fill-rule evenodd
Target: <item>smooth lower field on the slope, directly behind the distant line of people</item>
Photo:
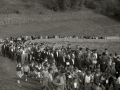
<instances>
[{"instance_id":1,"label":"smooth lower field on the slope, directly behind the distant line of people","mask_svg":"<svg viewBox=\"0 0 120 90\"><path fill-rule=\"evenodd\" d=\"M81 13L81 12L79 12ZM86 12L85 12L86 13ZM69 13L70 14L70 13ZM90 12L87 12L90 15ZM79 36L112 36L120 35L120 23L107 17L84 16L72 17L70 14L61 16L46 15L33 19L35 23L2 27L0 37L19 35L79 35ZM78 14L79 15L79 14ZM69 17L68 17L69 16ZM24 21L24 19L19 19ZM18 22L17 20L16 22ZM100 20L100 21L99 21ZM29 19L28 19L29 21ZM105 23L105 24L103 24Z\"/></svg>"}]
</instances>

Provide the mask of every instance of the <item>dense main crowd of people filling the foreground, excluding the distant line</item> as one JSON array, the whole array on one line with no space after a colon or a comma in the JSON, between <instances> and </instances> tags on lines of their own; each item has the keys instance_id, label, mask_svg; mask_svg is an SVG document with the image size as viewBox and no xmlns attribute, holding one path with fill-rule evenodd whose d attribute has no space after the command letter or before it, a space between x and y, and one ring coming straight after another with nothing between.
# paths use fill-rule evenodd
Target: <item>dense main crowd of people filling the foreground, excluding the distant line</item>
<instances>
[{"instance_id":1,"label":"dense main crowd of people filling the foreground, excluding the distant line","mask_svg":"<svg viewBox=\"0 0 120 90\"><path fill-rule=\"evenodd\" d=\"M41 90L120 90L120 55L103 53L71 44L51 47L26 43L27 39L6 38L0 55L16 61L17 82L37 78Z\"/></svg>"}]
</instances>

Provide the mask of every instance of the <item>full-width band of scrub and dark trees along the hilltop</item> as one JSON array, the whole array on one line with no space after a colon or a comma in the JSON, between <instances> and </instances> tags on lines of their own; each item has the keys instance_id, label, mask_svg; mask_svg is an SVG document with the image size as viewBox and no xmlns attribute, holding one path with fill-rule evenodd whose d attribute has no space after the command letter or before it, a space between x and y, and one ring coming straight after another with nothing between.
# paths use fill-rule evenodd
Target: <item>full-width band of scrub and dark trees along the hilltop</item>
<instances>
[{"instance_id":1,"label":"full-width band of scrub and dark trees along the hilltop","mask_svg":"<svg viewBox=\"0 0 120 90\"><path fill-rule=\"evenodd\" d=\"M53 11L87 8L105 15L120 16L120 0L0 0L0 13L39 13L46 8Z\"/></svg>"}]
</instances>

